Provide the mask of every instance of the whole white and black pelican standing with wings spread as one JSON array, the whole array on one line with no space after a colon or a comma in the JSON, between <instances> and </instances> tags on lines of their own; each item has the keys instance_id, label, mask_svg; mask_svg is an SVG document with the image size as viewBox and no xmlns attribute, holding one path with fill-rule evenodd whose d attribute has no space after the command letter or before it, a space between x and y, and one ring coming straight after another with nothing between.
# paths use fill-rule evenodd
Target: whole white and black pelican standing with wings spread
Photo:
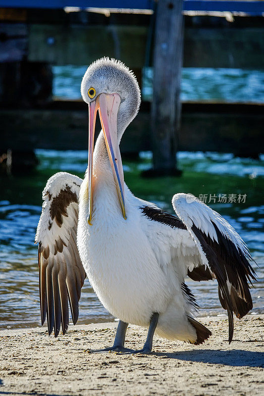
<instances>
[{"instance_id":1,"label":"whole white and black pelican standing with wings spread","mask_svg":"<svg viewBox=\"0 0 264 396\"><path fill-rule=\"evenodd\" d=\"M94 351L151 353L154 333L168 340L204 343L211 331L199 323L197 303L185 284L216 279L227 310L229 343L233 313L252 309L248 282L255 280L249 249L234 228L190 194L172 198L175 215L135 197L124 182L119 143L136 116L140 90L120 61L92 63L81 83L89 108L88 168L84 180L53 175L43 192L36 233L39 244L41 319L58 336L73 323L87 276L95 293L119 318L113 346ZM102 131L94 147L96 115ZM128 324L148 328L143 348L125 348Z\"/></svg>"}]
</instances>

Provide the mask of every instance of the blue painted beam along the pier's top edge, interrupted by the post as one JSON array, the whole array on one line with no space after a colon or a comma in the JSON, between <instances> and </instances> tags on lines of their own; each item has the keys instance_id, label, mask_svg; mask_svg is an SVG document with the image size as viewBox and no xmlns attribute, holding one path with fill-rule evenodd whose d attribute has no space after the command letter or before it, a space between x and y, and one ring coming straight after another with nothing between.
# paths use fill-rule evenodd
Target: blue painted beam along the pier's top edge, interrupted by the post
<instances>
[{"instance_id":1,"label":"blue painted beam along the pier's top edge, interrupted by the post","mask_svg":"<svg viewBox=\"0 0 264 396\"><path fill-rule=\"evenodd\" d=\"M8 8L137 8L154 9L154 0L0 0ZM264 1L184 0L184 11L230 11L249 15L264 15Z\"/></svg>"}]
</instances>

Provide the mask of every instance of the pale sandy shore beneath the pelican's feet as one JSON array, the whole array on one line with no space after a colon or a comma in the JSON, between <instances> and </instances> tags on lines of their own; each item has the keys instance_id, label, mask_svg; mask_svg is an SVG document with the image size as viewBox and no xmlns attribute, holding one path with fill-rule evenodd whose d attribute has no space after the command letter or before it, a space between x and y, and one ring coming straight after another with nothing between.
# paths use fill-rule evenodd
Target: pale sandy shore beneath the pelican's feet
<instances>
[{"instance_id":1,"label":"pale sandy shore beneath the pelican's feet","mask_svg":"<svg viewBox=\"0 0 264 396\"><path fill-rule=\"evenodd\" d=\"M92 354L112 345L117 323L0 331L0 395L218 396L264 395L264 315L235 321L200 318L212 332L201 346L154 339L152 355ZM143 346L146 330L129 326L127 347Z\"/></svg>"}]
</instances>

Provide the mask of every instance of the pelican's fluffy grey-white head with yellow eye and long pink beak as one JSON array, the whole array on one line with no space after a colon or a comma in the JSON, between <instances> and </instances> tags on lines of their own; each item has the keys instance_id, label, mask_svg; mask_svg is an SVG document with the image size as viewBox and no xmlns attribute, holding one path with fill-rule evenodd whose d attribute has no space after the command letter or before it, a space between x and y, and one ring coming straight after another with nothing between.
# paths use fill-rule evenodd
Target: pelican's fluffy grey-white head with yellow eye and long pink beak
<instances>
[{"instance_id":1,"label":"pelican's fluffy grey-white head with yellow eye and long pink beak","mask_svg":"<svg viewBox=\"0 0 264 396\"><path fill-rule=\"evenodd\" d=\"M88 223L93 211L93 151L96 114L99 110L106 149L116 184L123 217L126 218L124 177L119 143L124 130L137 115L140 90L134 74L120 61L102 58L92 63L81 84L83 100L89 106Z\"/></svg>"}]
</instances>

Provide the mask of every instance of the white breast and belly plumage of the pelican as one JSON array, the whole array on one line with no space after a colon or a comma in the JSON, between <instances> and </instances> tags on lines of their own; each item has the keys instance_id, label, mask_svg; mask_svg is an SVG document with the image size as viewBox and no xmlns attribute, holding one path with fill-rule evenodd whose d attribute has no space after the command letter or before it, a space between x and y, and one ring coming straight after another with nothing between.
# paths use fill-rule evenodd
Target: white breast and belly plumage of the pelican
<instances>
[{"instance_id":1,"label":"white breast and belly plumage of the pelican","mask_svg":"<svg viewBox=\"0 0 264 396\"><path fill-rule=\"evenodd\" d=\"M92 226L87 222L88 202L83 199L86 179L81 186L77 233L80 257L97 296L124 322L148 327L152 313L159 312L157 334L195 341L195 331L185 318L192 305L181 292L187 268L177 265L175 249L186 238L189 251L195 248L188 231L149 220L140 210L146 202L134 197L127 187L127 219L116 216L120 209L115 185L107 185L110 175L100 176L94 188Z\"/></svg>"}]
</instances>

